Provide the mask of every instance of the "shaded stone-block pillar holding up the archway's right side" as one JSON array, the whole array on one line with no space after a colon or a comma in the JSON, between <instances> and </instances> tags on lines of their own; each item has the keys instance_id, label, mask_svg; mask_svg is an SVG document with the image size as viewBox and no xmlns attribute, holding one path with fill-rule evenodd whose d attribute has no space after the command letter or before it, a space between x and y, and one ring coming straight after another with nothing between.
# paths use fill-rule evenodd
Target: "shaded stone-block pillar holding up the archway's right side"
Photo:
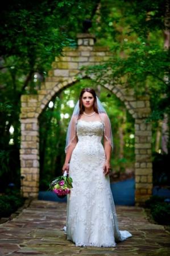
<instances>
[{"instance_id":1,"label":"shaded stone-block pillar holding up the archway's right side","mask_svg":"<svg viewBox=\"0 0 170 256\"><path fill-rule=\"evenodd\" d=\"M152 195L151 124L135 119L135 202L143 205Z\"/></svg>"}]
</instances>

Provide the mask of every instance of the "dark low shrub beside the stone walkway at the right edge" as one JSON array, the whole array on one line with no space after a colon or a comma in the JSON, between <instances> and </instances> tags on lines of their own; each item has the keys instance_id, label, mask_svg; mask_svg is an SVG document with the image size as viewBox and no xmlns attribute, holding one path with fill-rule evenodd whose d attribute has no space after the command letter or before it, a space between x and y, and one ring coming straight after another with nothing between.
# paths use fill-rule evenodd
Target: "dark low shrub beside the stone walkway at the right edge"
<instances>
[{"instance_id":1,"label":"dark low shrub beside the stone walkway at the right edge","mask_svg":"<svg viewBox=\"0 0 170 256\"><path fill-rule=\"evenodd\" d=\"M152 196L146 201L146 207L151 209L154 220L161 225L170 225L170 204L165 203L164 197Z\"/></svg>"}]
</instances>

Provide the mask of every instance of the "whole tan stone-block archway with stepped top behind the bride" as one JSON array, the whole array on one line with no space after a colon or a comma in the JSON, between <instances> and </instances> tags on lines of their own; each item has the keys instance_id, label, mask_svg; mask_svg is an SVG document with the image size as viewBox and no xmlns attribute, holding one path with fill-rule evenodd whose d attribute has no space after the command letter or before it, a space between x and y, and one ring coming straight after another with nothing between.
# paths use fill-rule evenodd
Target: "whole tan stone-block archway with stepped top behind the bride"
<instances>
[{"instance_id":1,"label":"whole tan stone-block archway with stepped top behind the bride","mask_svg":"<svg viewBox=\"0 0 170 256\"><path fill-rule=\"evenodd\" d=\"M63 56L56 57L52 69L38 94L21 97L20 164L22 190L25 197L37 197L39 192L39 121L38 117L51 98L66 86L76 82L82 65L100 64L109 59L107 47L94 46L94 36L78 34L78 47L65 47ZM142 205L152 195L151 124L145 119L150 114L150 98L135 97L134 90L121 85L105 84L105 88L125 103L135 119L135 202Z\"/></svg>"}]
</instances>

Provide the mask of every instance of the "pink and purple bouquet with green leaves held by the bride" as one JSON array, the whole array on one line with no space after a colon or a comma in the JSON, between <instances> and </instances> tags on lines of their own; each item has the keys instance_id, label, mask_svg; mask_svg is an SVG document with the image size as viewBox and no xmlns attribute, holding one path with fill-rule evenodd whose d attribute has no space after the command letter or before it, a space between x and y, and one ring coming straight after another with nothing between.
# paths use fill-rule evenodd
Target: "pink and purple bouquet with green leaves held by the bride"
<instances>
[{"instance_id":1,"label":"pink and purple bouquet with green leaves held by the bride","mask_svg":"<svg viewBox=\"0 0 170 256\"><path fill-rule=\"evenodd\" d=\"M57 177L49 184L49 189L60 198L63 198L71 192L72 182L72 178L68 177L67 171L65 171L62 176Z\"/></svg>"}]
</instances>

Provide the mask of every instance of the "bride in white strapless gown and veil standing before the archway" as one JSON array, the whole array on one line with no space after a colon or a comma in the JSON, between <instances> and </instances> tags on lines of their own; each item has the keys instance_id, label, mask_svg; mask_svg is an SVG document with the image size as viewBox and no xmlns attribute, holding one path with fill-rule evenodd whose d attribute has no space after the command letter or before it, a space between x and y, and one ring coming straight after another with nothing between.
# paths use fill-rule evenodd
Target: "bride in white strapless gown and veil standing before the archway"
<instances>
[{"instance_id":1,"label":"bride in white strapless gown and veil standing before the archway","mask_svg":"<svg viewBox=\"0 0 170 256\"><path fill-rule=\"evenodd\" d=\"M112 148L105 109L93 89L82 89L68 126L63 166L73 179L66 232L76 246L114 247L132 236L118 229L108 175Z\"/></svg>"}]
</instances>

